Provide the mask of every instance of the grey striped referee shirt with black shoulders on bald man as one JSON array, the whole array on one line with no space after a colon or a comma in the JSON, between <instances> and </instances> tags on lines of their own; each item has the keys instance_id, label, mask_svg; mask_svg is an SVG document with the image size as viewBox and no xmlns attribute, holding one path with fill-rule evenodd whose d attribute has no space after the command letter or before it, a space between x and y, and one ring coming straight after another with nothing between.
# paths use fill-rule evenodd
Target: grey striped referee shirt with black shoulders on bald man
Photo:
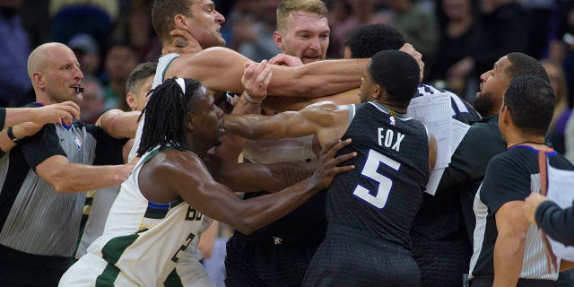
<instances>
[{"instance_id":1,"label":"grey striped referee shirt with black shoulders on bald man","mask_svg":"<svg viewBox=\"0 0 574 287\"><path fill-rule=\"evenodd\" d=\"M125 142L81 123L70 129L48 124L24 139L0 160L0 244L33 255L71 257L85 194L58 194L34 170L56 155L71 163L121 163Z\"/></svg>"}]
</instances>

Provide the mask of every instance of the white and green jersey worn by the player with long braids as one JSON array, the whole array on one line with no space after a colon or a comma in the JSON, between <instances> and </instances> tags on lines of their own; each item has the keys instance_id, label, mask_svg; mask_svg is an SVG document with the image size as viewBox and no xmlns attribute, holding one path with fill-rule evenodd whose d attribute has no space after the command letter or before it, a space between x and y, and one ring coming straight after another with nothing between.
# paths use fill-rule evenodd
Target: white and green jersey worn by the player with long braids
<instances>
[{"instance_id":1,"label":"white and green jersey worn by the player with long braids","mask_svg":"<svg viewBox=\"0 0 574 287\"><path fill-rule=\"evenodd\" d=\"M68 269L59 286L213 285L199 262L178 262L188 248L196 249L199 234L212 220L180 198L157 204L140 192L139 171L159 152L156 148L137 163L109 211L103 235Z\"/></svg>"}]
</instances>

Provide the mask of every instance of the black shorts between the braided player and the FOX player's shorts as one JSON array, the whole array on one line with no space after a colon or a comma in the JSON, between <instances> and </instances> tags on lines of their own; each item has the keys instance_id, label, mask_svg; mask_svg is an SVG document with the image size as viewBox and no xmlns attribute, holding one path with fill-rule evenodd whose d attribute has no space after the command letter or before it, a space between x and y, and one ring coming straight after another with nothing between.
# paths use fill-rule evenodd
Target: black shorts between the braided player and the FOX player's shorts
<instances>
[{"instance_id":1,"label":"black shorts between the braided player and the FOX player's shorts","mask_svg":"<svg viewBox=\"0 0 574 287\"><path fill-rule=\"evenodd\" d=\"M254 242L236 232L227 242L225 286L299 287L317 246Z\"/></svg>"}]
</instances>

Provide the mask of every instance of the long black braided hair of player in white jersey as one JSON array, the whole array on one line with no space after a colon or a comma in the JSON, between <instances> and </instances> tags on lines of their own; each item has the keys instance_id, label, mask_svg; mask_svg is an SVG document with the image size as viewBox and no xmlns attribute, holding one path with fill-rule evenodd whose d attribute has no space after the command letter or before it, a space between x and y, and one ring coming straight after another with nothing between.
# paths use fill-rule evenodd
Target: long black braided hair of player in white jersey
<instances>
[{"instance_id":1,"label":"long black braided hair of player in white jersey","mask_svg":"<svg viewBox=\"0 0 574 287\"><path fill-rule=\"evenodd\" d=\"M184 125L187 116L187 104L193 100L201 83L193 79L184 79L186 93L176 82L176 77L166 80L157 86L148 100L142 115L145 113L142 142L137 155L152 151L156 146L160 150L167 145L184 151L187 145L187 130ZM140 116L142 117L142 116Z\"/></svg>"}]
</instances>

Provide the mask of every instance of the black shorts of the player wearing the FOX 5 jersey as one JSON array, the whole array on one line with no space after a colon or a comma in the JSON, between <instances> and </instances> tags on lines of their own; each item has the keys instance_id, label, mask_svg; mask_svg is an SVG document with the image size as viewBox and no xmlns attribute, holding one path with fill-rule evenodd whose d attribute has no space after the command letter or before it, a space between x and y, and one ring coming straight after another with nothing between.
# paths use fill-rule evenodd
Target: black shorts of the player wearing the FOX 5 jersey
<instances>
[{"instance_id":1,"label":"black shorts of the player wearing the FOX 5 jersey","mask_svg":"<svg viewBox=\"0 0 574 287\"><path fill-rule=\"evenodd\" d=\"M329 225L301 286L421 285L411 252L359 230Z\"/></svg>"}]
</instances>

